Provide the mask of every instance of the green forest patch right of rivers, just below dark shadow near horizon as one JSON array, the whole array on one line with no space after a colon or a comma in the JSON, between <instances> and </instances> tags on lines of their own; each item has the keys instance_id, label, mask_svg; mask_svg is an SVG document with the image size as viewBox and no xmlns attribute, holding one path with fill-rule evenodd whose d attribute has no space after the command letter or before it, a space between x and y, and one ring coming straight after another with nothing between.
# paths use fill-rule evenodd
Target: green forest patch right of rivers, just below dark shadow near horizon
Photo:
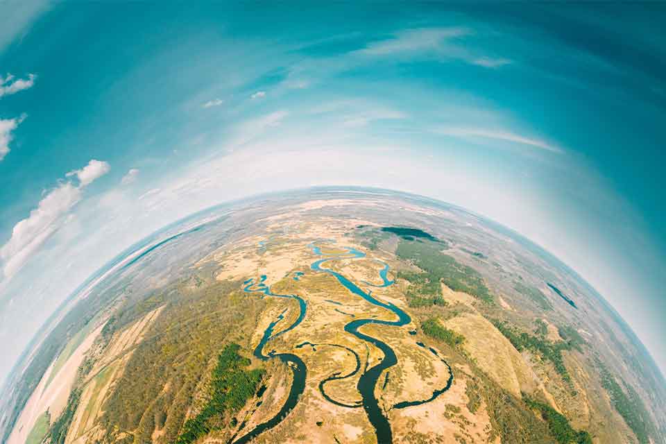
<instances>
[{"instance_id":1,"label":"green forest patch right of rivers, just below dark shadow near horizon","mask_svg":"<svg viewBox=\"0 0 666 444\"><path fill-rule=\"evenodd\" d=\"M493 296L479 272L460 264L454 257L441 253L441 249L441 244L436 242L401 240L395 254L400 259L418 266L423 273L398 272L398 278L413 282L414 292L418 295L428 295L431 298L441 295L440 282L444 282L454 291L464 291L484 302L492 303Z\"/></svg>"}]
</instances>

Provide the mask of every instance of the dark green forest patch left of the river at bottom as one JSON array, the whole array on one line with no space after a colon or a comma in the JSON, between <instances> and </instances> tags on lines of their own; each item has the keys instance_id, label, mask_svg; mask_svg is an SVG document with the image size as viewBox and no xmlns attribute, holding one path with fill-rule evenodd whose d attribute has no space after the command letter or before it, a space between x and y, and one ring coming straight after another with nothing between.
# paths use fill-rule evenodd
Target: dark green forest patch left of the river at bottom
<instances>
[{"instance_id":1,"label":"dark green forest patch left of the river at bottom","mask_svg":"<svg viewBox=\"0 0 666 444\"><path fill-rule=\"evenodd\" d=\"M219 355L213 370L210 400L194 418L185 422L176 443L193 443L212 429L221 429L225 425L225 413L236 413L256 393L264 370L244 370L250 365L250 359L239 355L240 348L232 343Z\"/></svg>"}]
</instances>

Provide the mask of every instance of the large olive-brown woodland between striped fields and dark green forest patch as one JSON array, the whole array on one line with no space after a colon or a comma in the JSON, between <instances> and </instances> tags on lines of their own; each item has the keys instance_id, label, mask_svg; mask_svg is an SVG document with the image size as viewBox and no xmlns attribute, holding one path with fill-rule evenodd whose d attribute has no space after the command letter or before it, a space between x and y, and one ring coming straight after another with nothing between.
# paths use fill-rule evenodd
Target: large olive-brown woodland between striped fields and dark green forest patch
<instances>
[{"instance_id":1,"label":"large olive-brown woodland between striped fields and dark green forest patch","mask_svg":"<svg viewBox=\"0 0 666 444\"><path fill-rule=\"evenodd\" d=\"M197 387L212 378L211 350L248 341L266 300L238 291L237 282L212 282L195 289L176 284L165 289L166 304L114 383L103 405L100 425L133 432L136 443L151 442L155 427L160 442L175 443L188 411L202 405ZM150 311L154 300L126 307L114 325ZM147 311L146 311L147 310ZM112 334L112 331L109 332Z\"/></svg>"}]
</instances>

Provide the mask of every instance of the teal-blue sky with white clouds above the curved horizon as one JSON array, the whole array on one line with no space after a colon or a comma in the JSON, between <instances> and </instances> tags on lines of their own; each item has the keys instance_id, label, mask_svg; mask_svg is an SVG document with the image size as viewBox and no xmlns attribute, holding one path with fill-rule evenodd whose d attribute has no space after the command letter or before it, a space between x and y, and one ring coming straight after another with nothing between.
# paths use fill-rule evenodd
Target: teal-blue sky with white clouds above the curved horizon
<instances>
[{"instance_id":1,"label":"teal-blue sky with white clouds above the curved horizon","mask_svg":"<svg viewBox=\"0 0 666 444\"><path fill-rule=\"evenodd\" d=\"M513 228L666 373L664 23L656 2L0 3L0 383L130 244L315 185Z\"/></svg>"}]
</instances>

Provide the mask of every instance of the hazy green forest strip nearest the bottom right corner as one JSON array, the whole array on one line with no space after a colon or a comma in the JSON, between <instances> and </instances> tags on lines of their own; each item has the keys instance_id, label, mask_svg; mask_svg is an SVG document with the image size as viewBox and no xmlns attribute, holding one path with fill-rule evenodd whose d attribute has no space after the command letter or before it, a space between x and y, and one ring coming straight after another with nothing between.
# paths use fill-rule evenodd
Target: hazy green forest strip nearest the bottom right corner
<instances>
[{"instance_id":1,"label":"hazy green forest strip nearest the bottom right corner","mask_svg":"<svg viewBox=\"0 0 666 444\"><path fill-rule=\"evenodd\" d=\"M640 444L649 444L649 436L655 434L654 424L640 396L621 379L622 386L626 389L622 390L622 386L617 383L617 379L610 374L608 368L601 363L598 364L601 368L601 386L606 389L613 407L624 418L626 425L633 430L636 438L638 438L638 442Z\"/></svg>"}]
</instances>

